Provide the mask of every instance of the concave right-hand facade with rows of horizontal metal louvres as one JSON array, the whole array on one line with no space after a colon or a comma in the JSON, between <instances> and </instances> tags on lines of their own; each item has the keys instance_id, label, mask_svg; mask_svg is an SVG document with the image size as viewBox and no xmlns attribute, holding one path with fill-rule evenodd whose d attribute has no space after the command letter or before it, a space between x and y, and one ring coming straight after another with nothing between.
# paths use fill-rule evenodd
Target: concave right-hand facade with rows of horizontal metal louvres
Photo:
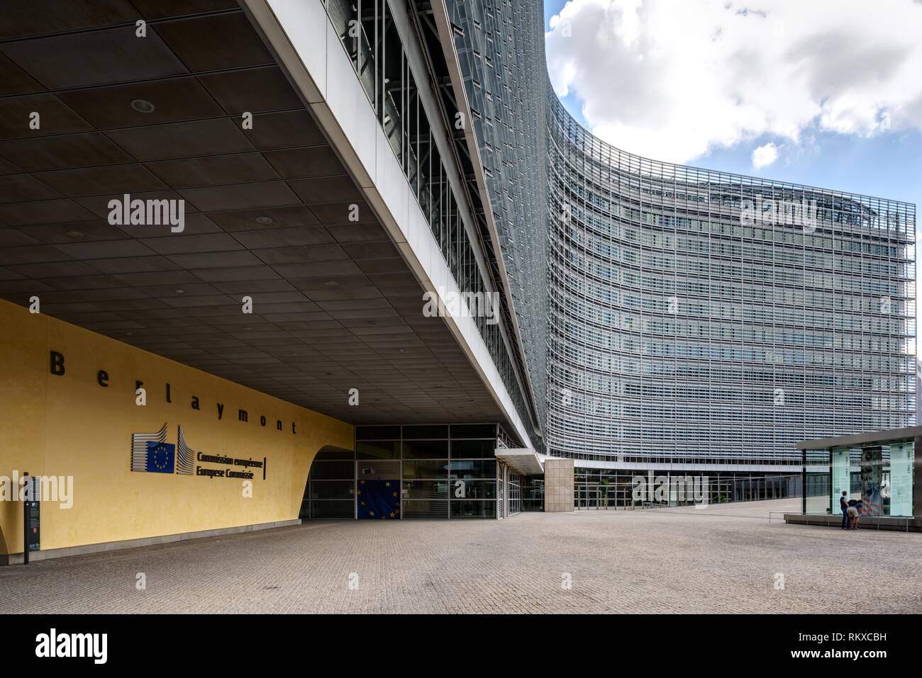
<instances>
[{"instance_id":1,"label":"concave right-hand facade with rows of horizontal metal louvres","mask_svg":"<svg viewBox=\"0 0 922 678\"><path fill-rule=\"evenodd\" d=\"M549 121L550 453L777 463L915 423L915 205Z\"/></svg>"}]
</instances>

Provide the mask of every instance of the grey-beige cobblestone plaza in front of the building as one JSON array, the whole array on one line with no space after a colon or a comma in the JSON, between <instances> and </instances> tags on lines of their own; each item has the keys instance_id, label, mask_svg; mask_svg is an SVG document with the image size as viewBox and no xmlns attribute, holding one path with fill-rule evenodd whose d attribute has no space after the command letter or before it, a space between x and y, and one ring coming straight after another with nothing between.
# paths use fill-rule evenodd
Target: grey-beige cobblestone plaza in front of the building
<instances>
[{"instance_id":1,"label":"grey-beige cobblestone plaza in front of the building","mask_svg":"<svg viewBox=\"0 0 922 678\"><path fill-rule=\"evenodd\" d=\"M307 523L0 567L0 613L922 612L922 534L796 506Z\"/></svg>"}]
</instances>

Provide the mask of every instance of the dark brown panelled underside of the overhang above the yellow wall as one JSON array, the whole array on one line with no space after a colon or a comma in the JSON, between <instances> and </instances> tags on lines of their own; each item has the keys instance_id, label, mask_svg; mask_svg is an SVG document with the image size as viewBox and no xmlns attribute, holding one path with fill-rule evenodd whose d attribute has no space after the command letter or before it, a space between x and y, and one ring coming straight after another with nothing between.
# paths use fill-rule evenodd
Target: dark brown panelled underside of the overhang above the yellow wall
<instances>
[{"instance_id":1,"label":"dark brown panelled underside of the overhang above the yellow wall","mask_svg":"<svg viewBox=\"0 0 922 678\"><path fill-rule=\"evenodd\" d=\"M236 2L5 6L0 297L352 423L503 421L422 289Z\"/></svg>"}]
</instances>

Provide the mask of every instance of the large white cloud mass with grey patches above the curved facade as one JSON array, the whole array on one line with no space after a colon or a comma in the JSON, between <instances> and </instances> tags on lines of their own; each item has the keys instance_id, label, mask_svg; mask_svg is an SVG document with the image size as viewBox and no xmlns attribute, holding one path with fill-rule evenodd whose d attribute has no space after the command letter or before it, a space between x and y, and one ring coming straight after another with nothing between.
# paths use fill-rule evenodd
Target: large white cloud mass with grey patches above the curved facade
<instances>
[{"instance_id":1,"label":"large white cloud mass with grey patches above the curved facade","mask_svg":"<svg viewBox=\"0 0 922 678\"><path fill-rule=\"evenodd\" d=\"M797 144L811 125L922 128L913 0L570 0L550 25L557 93L584 101L595 134L650 158L762 134Z\"/></svg>"}]
</instances>

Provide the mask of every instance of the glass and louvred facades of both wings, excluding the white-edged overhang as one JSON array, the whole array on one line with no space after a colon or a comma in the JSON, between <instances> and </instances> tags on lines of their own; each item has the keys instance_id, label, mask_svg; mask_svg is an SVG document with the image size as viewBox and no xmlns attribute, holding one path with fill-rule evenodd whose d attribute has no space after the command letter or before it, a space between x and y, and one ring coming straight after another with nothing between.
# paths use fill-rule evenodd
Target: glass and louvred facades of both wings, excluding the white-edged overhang
<instances>
[{"instance_id":1,"label":"glass and louvred facades of both wings, excluding the white-edged overhang","mask_svg":"<svg viewBox=\"0 0 922 678\"><path fill-rule=\"evenodd\" d=\"M798 440L916 422L915 205L610 146L554 95L538 2L325 9L455 279L501 293L479 330L583 503L650 468L774 488Z\"/></svg>"}]
</instances>

